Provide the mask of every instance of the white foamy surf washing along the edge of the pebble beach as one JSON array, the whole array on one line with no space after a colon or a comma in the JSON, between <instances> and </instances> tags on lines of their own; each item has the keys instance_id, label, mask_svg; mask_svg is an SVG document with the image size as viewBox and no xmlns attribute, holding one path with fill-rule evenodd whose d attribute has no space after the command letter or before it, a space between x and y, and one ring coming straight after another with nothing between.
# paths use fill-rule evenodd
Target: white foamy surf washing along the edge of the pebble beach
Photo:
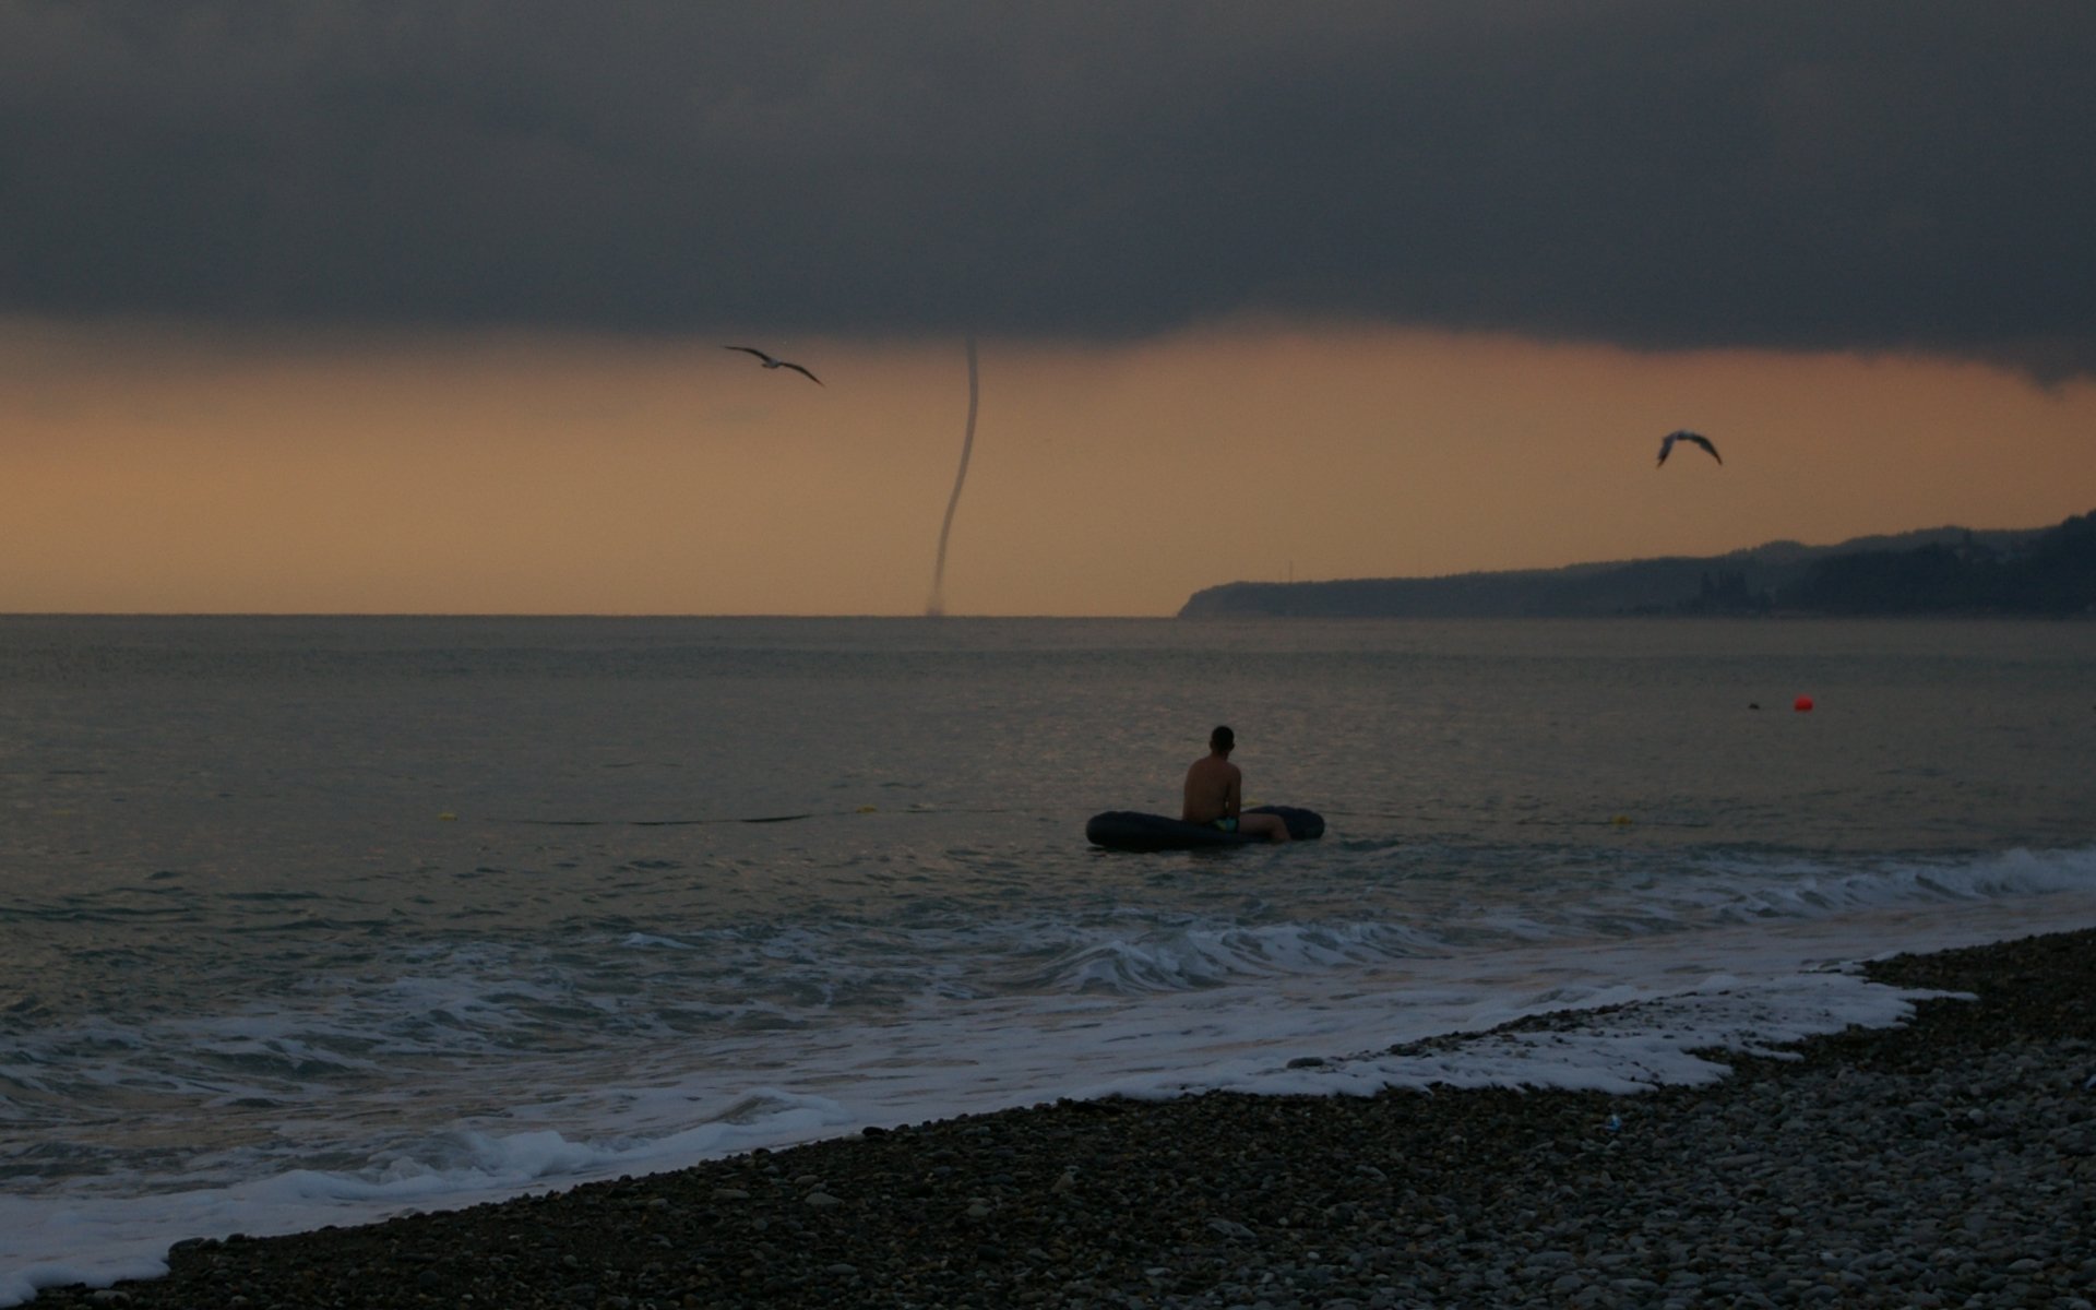
<instances>
[{"instance_id":1,"label":"white foamy surf washing along the edge of the pebble beach","mask_svg":"<svg viewBox=\"0 0 2096 1310\"><path fill-rule=\"evenodd\" d=\"M2008 859L2054 868L2054 859ZM2075 861L2067 861L2075 864ZM2077 882L2073 882L2079 887ZM1914 1000L1836 964L1865 954L2096 924L2096 895L1989 899L1956 914L1821 916L1696 935L1541 941L1308 970L1205 989L1006 996L878 1027L708 1042L631 1061L610 1086L526 1073L530 1102L400 1142L350 1172L285 1167L189 1191L105 1195L78 1184L0 1199L0 1304L40 1285L105 1285L163 1268L170 1243L291 1232L1058 1096L1373 1094L1536 1086L1635 1094L1723 1075L1708 1050L1780 1052L1847 1025L1899 1023ZM1291 937L1293 939L1293 937ZM1170 952L1165 952L1170 956ZM1176 966L1174 966L1176 968ZM1488 1031L1595 1010L1549 1031ZM1473 1038L1406 1050L1446 1033ZM1392 1050L1392 1048L1398 1050ZM1308 1056L1308 1058L1306 1058ZM698 1061L698 1063L690 1063ZM748 1082L750 1073L773 1077ZM511 1071L516 1075L518 1071ZM585 1086L587 1084L587 1086ZM1626 1117L1635 1109L1624 1111ZM499 1128L507 1123L509 1130Z\"/></svg>"}]
</instances>

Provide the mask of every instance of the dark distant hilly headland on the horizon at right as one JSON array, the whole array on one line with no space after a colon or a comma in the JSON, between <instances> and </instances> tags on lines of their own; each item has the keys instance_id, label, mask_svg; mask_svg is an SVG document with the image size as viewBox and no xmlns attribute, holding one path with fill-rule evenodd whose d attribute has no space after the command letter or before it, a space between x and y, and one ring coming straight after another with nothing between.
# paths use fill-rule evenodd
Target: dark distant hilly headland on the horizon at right
<instances>
[{"instance_id":1,"label":"dark distant hilly headland on the horizon at right","mask_svg":"<svg viewBox=\"0 0 2096 1310\"><path fill-rule=\"evenodd\" d=\"M1226 583L1180 618L1570 618L1618 614L2096 614L2096 514L2056 528L1928 528L1729 555L1440 578Z\"/></svg>"}]
</instances>

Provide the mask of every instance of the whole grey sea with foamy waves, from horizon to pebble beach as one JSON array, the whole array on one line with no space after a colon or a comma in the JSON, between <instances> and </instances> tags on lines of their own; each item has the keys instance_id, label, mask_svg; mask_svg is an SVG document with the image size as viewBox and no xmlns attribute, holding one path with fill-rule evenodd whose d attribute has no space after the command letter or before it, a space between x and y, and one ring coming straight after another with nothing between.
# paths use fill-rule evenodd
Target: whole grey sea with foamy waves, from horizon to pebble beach
<instances>
[{"instance_id":1,"label":"whole grey sea with foamy waves, from horizon to pebble beach","mask_svg":"<svg viewBox=\"0 0 2096 1310\"><path fill-rule=\"evenodd\" d=\"M1086 843L1218 723L1320 840ZM1633 1132L2096 924L2092 765L2092 623L4 616L0 1304L1063 1096Z\"/></svg>"}]
</instances>

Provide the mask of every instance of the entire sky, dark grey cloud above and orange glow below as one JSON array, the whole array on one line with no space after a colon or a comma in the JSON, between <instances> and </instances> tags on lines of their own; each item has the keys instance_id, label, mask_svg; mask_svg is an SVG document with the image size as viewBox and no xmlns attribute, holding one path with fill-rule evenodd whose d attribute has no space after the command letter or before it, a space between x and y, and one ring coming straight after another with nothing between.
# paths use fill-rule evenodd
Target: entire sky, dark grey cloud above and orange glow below
<instances>
[{"instance_id":1,"label":"entire sky, dark grey cloud above and orange glow below","mask_svg":"<svg viewBox=\"0 0 2096 1310\"><path fill-rule=\"evenodd\" d=\"M0 0L0 612L920 614L970 335L949 614L2046 526L2090 67L2081 0Z\"/></svg>"}]
</instances>

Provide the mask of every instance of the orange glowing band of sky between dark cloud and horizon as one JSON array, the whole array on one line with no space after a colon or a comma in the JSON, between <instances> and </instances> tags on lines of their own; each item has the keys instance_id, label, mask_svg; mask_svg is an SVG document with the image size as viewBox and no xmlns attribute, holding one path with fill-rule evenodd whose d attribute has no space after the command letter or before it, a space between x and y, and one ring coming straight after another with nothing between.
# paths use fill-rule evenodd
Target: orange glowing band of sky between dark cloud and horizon
<instances>
[{"instance_id":1,"label":"orange glowing band of sky between dark cloud and horizon","mask_svg":"<svg viewBox=\"0 0 2096 1310\"><path fill-rule=\"evenodd\" d=\"M960 340L0 325L0 612L920 614ZM1235 323L981 342L949 614L2096 509L2096 384ZM1708 434L1723 467L1677 449Z\"/></svg>"}]
</instances>

